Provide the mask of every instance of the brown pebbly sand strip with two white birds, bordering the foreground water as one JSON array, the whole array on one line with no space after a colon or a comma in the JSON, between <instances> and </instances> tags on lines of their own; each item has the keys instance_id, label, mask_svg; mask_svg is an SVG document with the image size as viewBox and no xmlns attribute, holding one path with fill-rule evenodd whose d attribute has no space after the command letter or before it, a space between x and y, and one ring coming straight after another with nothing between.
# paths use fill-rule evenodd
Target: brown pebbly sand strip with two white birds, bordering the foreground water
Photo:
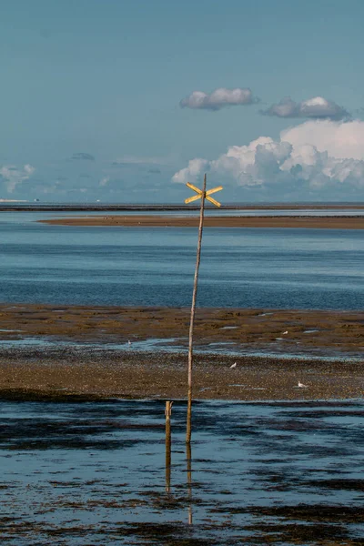
<instances>
[{"instance_id":1,"label":"brown pebbly sand strip with two white birds, bordering the foreground water","mask_svg":"<svg viewBox=\"0 0 364 546\"><path fill-rule=\"evenodd\" d=\"M359 361L196 355L195 399L305 400L363 397ZM230 369L232 362L235 369ZM187 398L187 355L107 349L7 349L0 399ZM298 388L298 381L307 388Z\"/></svg>"}]
</instances>

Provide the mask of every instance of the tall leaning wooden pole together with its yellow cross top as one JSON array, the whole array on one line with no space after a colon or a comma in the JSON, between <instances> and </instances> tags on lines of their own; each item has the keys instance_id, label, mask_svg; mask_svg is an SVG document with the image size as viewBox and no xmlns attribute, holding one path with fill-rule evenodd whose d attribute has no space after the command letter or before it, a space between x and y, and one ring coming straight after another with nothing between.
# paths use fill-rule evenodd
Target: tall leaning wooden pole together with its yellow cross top
<instances>
[{"instance_id":1,"label":"tall leaning wooden pole together with its yellow cross top","mask_svg":"<svg viewBox=\"0 0 364 546\"><path fill-rule=\"evenodd\" d=\"M201 207L199 210L199 226L198 226L198 240L197 240L197 256L196 256L196 268L195 268L195 278L194 286L192 292L192 305L191 305L191 316L189 320L189 336L188 336L188 392L187 392L187 430L186 430L186 443L191 442L191 418L192 418L192 364L193 364L193 328L195 321L195 310L196 310L196 297L197 297L197 284L198 284L198 268L201 258L201 242L202 242L202 230L204 227L204 211L205 211L205 199L213 203L217 207L220 207L220 203L213 199L211 194L216 193L222 186L214 187L206 191L206 173L204 175L204 185L202 190L196 186L193 186L187 182L187 187L190 187L196 191L197 196L188 197L185 199L185 203L191 203L192 201L197 201L201 199Z\"/></svg>"}]
</instances>

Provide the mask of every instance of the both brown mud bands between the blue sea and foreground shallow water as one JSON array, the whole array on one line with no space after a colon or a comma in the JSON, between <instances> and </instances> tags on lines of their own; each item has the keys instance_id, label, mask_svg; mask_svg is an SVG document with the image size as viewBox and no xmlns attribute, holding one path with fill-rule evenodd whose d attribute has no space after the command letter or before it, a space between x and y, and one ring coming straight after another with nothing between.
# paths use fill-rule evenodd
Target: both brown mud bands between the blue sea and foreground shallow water
<instances>
[{"instance_id":1,"label":"both brown mud bands between the blue sea and foreground shallow water","mask_svg":"<svg viewBox=\"0 0 364 546\"><path fill-rule=\"evenodd\" d=\"M54 347L3 346L3 398L83 397L185 399L187 308L86 308L1 305L4 340L48 339ZM197 309L194 397L197 399L362 398L364 368L361 312L268 309ZM287 332L287 333L285 333ZM135 351L142 339L172 339L177 353ZM178 338L175 339L175 338ZM131 340L131 345L127 340ZM173 340L175 339L175 340ZM71 342L83 343L72 346ZM90 345L85 345L85 344ZM126 349L106 347L125 344ZM235 355L212 354L229 343ZM220 345L221 347L221 345ZM222 345L224 347L224 345ZM307 359L253 357L242 351L306 352ZM312 359L312 354L322 359ZM338 360L325 359L336 356ZM340 358L341 357L341 358ZM236 369L229 367L237 362ZM307 389L298 389L298 381Z\"/></svg>"}]
</instances>

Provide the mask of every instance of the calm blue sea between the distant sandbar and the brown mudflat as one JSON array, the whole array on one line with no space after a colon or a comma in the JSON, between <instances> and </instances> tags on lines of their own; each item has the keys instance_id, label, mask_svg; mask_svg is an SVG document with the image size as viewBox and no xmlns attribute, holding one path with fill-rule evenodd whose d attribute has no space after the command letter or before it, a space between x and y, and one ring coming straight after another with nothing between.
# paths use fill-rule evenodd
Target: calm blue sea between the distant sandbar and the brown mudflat
<instances>
[{"instance_id":1,"label":"calm blue sea between the distant sandbar and the brown mudflat","mask_svg":"<svg viewBox=\"0 0 364 546\"><path fill-rule=\"evenodd\" d=\"M55 216L66 214L1 213L1 301L190 304L196 228L35 223ZM209 227L198 305L360 309L363 266L361 230Z\"/></svg>"}]
</instances>

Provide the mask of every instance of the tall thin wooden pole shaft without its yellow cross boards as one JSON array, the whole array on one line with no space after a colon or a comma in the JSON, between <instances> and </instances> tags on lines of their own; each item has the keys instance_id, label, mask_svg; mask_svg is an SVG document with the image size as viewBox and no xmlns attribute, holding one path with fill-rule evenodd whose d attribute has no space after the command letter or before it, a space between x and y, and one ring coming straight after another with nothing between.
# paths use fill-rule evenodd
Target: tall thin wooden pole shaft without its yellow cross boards
<instances>
[{"instance_id":1,"label":"tall thin wooden pole shaft without its yellow cross boards","mask_svg":"<svg viewBox=\"0 0 364 546\"><path fill-rule=\"evenodd\" d=\"M197 297L197 283L198 283L198 268L201 259L201 241L202 241L202 229L204 226L204 210L205 210L205 197L206 197L206 174L204 175L204 186L201 196L201 208L199 212L199 227L198 227L198 241L197 241L197 257L194 287L192 292L192 305L191 305L191 317L189 320L189 338L188 338L188 394L187 394L187 430L186 430L186 443L191 442L191 418L192 418L192 364L193 364L193 328L195 321L196 310L196 297Z\"/></svg>"}]
</instances>

